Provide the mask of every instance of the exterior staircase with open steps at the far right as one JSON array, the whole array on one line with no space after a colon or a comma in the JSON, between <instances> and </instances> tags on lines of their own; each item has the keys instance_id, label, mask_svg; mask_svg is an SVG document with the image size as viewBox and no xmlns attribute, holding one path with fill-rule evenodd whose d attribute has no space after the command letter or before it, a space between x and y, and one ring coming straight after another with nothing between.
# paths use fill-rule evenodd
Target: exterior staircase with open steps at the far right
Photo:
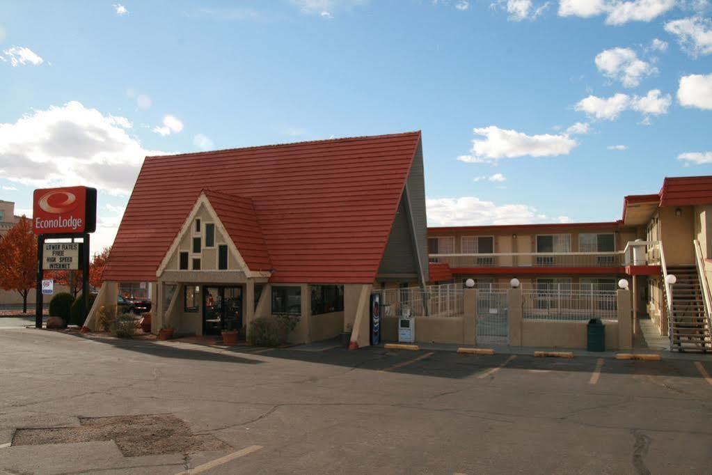
<instances>
[{"instance_id":1,"label":"exterior staircase with open steps at the far right","mask_svg":"<svg viewBox=\"0 0 712 475\"><path fill-rule=\"evenodd\" d=\"M669 315L671 350L712 351L712 340L695 266L671 266L677 282L671 286L672 312Z\"/></svg>"}]
</instances>

